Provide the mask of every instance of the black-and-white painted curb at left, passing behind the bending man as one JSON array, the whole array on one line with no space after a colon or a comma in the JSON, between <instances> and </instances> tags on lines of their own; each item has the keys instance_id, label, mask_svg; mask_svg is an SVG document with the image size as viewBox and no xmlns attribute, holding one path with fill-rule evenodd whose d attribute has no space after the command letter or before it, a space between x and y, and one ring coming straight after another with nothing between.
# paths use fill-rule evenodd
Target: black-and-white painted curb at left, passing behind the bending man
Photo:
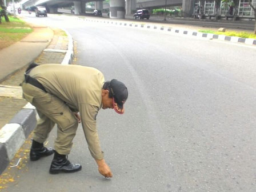
<instances>
[{"instance_id":1,"label":"black-and-white painted curb at left, passing behind the bending man","mask_svg":"<svg viewBox=\"0 0 256 192\"><path fill-rule=\"evenodd\" d=\"M61 29L63 30L63 29ZM69 45L66 55L62 61L62 65L69 65L74 58L73 38L66 31L69 37ZM37 111L30 103L27 103L18 113L11 119L9 123L0 130L0 175L9 166L11 159L17 153L19 148L25 143L31 131L37 125Z\"/></svg>"}]
</instances>

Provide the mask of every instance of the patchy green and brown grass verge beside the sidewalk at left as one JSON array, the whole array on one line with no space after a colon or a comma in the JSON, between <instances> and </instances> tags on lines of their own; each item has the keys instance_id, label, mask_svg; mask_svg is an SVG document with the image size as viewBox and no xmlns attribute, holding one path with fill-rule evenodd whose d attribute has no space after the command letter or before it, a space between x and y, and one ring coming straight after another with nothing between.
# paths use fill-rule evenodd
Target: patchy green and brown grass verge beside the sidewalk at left
<instances>
[{"instance_id":1,"label":"patchy green and brown grass verge beside the sidewalk at left","mask_svg":"<svg viewBox=\"0 0 256 192\"><path fill-rule=\"evenodd\" d=\"M2 18L0 24L0 50L26 37L33 29L19 18L9 16L10 22Z\"/></svg>"}]
</instances>

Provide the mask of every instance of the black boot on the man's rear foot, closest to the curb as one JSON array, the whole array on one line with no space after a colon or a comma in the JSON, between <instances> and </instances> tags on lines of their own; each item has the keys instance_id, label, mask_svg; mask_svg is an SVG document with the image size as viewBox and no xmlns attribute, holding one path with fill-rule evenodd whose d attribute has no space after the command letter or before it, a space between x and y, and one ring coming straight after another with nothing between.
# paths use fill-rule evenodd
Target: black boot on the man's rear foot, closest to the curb
<instances>
[{"instance_id":1,"label":"black boot on the man's rear foot, closest to the curb","mask_svg":"<svg viewBox=\"0 0 256 192\"><path fill-rule=\"evenodd\" d=\"M46 148L43 146L43 143L38 143L37 141L32 140L32 146L30 149L30 160L37 161L41 157L46 157L54 153L53 148Z\"/></svg>"}]
</instances>

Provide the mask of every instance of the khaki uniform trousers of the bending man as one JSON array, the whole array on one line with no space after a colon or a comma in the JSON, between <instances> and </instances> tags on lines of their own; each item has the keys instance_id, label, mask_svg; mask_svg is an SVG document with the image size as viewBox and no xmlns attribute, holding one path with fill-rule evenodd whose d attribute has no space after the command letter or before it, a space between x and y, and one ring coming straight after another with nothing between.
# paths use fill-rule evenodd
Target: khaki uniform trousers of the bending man
<instances>
[{"instance_id":1,"label":"khaki uniform trousers of the bending man","mask_svg":"<svg viewBox=\"0 0 256 192\"><path fill-rule=\"evenodd\" d=\"M33 131L33 139L39 143L46 141L50 131L57 123L57 138L54 149L62 155L70 153L73 138L77 132L78 120L61 99L53 94L31 85L22 83L23 97L37 108L40 119Z\"/></svg>"}]
</instances>

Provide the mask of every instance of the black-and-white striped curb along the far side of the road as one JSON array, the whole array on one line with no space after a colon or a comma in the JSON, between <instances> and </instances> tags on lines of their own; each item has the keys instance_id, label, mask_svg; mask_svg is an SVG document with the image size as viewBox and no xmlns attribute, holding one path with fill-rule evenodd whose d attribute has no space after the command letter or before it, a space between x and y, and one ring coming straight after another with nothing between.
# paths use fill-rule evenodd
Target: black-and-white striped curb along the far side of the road
<instances>
[{"instance_id":1,"label":"black-and-white striped curb along the far side of the road","mask_svg":"<svg viewBox=\"0 0 256 192\"><path fill-rule=\"evenodd\" d=\"M170 34L180 34L180 35L190 35L193 37L206 38L206 39L218 39L221 41L230 41L234 43L245 43L246 45L256 45L256 39L251 38L240 38L226 35L216 35L211 33L202 33L198 31L185 30L185 29L174 29L171 27L162 27L157 25L147 25L147 24L137 24L134 22L119 22L119 21L109 21L104 19L86 19L77 18L78 20L86 22L97 22L97 23L108 23L110 25L125 26L125 27L135 27L137 29L147 29L154 31L163 31Z\"/></svg>"}]
</instances>

